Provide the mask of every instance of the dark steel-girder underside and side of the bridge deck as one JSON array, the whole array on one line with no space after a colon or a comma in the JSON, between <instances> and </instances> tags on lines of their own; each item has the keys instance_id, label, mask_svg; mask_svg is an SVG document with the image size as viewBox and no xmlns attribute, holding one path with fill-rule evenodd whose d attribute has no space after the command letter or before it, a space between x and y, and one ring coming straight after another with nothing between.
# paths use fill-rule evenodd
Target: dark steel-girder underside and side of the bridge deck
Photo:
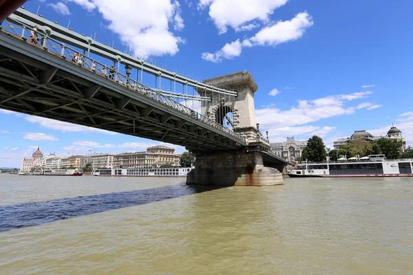
<instances>
[{"instance_id":1,"label":"dark steel-girder underside and side of the bridge deck","mask_svg":"<svg viewBox=\"0 0 413 275\"><path fill-rule=\"evenodd\" d=\"M0 43L1 109L178 144L196 151L233 151L245 145L163 102L28 42L0 34ZM13 47L7 47L8 44Z\"/></svg>"}]
</instances>

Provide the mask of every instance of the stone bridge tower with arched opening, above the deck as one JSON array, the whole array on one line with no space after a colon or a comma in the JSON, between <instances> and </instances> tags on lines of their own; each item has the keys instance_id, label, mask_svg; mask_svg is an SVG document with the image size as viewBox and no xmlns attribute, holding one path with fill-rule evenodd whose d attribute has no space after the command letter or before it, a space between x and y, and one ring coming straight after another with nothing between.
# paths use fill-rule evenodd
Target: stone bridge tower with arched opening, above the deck
<instances>
[{"instance_id":1,"label":"stone bridge tower with arched opening, above the deck","mask_svg":"<svg viewBox=\"0 0 413 275\"><path fill-rule=\"evenodd\" d=\"M255 119L254 94L258 86L249 72L237 72L217 78L204 80L203 83L237 93L236 97L226 95L213 95L212 92L198 91L202 96L211 98L203 101L201 113L211 120L222 124L226 113L233 113L234 131L244 135L246 140L255 141L259 129Z\"/></svg>"}]
</instances>

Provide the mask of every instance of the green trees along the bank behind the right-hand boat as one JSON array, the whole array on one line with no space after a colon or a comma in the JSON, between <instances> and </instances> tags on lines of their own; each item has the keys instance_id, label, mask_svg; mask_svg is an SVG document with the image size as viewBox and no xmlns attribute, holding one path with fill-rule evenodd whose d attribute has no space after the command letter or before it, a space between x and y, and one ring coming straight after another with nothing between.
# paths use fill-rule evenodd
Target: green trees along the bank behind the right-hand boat
<instances>
[{"instance_id":1,"label":"green trees along the bank behind the right-hand boat","mask_svg":"<svg viewBox=\"0 0 413 275\"><path fill-rule=\"evenodd\" d=\"M347 144L341 145L339 149L328 150L321 137L314 135L307 141L301 157L297 162L324 162L326 157L336 161L340 157L365 157L367 155L385 155L388 159L413 158L413 148L409 146L405 152L401 151L403 142L388 138L380 138L373 142L366 140L348 140Z\"/></svg>"}]
</instances>

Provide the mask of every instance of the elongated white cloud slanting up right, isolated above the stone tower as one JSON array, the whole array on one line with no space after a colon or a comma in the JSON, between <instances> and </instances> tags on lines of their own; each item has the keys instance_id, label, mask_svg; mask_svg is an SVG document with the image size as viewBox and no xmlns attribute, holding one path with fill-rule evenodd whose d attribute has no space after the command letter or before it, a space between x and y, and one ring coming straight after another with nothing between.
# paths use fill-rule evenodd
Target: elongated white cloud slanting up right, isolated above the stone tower
<instances>
[{"instance_id":1,"label":"elongated white cloud slanting up right, isolated above the stone tower","mask_svg":"<svg viewBox=\"0 0 413 275\"><path fill-rule=\"evenodd\" d=\"M303 36L307 28L313 25L313 19L307 12L301 12L297 14L290 21L279 21L274 25L262 28L255 36L250 39L244 39L242 43L240 40L232 43L226 43L221 50L218 50L214 54L209 52L202 53L202 59L218 63L222 61L222 58L231 59L234 56L240 56L242 47L253 46L276 46L288 41L295 41ZM231 54L228 50L232 49Z\"/></svg>"}]
</instances>

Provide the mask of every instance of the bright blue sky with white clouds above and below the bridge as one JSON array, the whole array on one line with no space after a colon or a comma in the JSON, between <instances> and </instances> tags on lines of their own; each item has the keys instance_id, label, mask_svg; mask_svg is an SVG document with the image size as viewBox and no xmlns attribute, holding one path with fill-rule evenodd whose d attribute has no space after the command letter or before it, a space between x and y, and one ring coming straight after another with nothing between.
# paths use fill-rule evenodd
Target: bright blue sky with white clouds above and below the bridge
<instances>
[{"instance_id":1,"label":"bright blue sky with white clouds above and below the bridge","mask_svg":"<svg viewBox=\"0 0 413 275\"><path fill-rule=\"evenodd\" d=\"M394 123L413 145L412 1L37 3L46 19L70 20L77 32L191 78L251 72L257 120L272 142L317 134L331 146L355 130L385 135ZM36 12L36 2L25 8ZM6 111L0 121L0 167L20 166L37 145L70 155L159 144Z\"/></svg>"}]
</instances>

